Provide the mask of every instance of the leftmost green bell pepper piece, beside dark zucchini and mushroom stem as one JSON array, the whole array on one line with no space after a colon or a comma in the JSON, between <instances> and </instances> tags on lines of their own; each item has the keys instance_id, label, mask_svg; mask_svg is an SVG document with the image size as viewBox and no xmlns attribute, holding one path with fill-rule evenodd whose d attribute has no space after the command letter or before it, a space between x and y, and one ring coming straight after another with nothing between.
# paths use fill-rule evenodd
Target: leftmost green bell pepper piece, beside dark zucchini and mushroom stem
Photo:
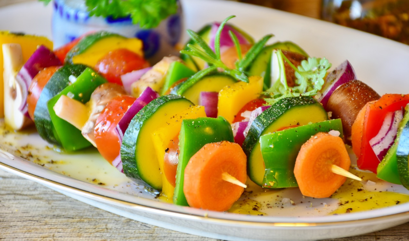
<instances>
[{"instance_id":1,"label":"leftmost green bell pepper piece, beside dark zucchini and mushroom stem","mask_svg":"<svg viewBox=\"0 0 409 241\"><path fill-rule=\"evenodd\" d=\"M77 80L65 87L60 93L51 98L47 103L47 108L50 113L51 121L54 125L55 131L62 147L66 151L79 150L91 145L81 134L81 130L77 129L72 124L59 118L54 112L54 105L57 103L61 95L69 96L75 100L86 103L89 101L91 94L101 84L107 81L99 74L90 68L86 68Z\"/></svg>"}]
</instances>

